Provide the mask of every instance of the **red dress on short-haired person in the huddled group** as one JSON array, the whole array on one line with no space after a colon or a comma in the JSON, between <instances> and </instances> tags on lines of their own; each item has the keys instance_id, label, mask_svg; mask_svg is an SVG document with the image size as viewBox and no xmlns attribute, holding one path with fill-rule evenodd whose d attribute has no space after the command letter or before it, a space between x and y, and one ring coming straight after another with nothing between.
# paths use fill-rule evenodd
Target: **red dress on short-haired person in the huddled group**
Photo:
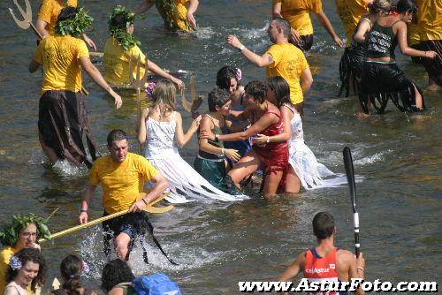
<instances>
[{"instance_id":1,"label":"red dress on short-haired person in the huddled group","mask_svg":"<svg viewBox=\"0 0 442 295\"><path fill-rule=\"evenodd\" d=\"M281 134L284 131L284 121L282 117L272 110L267 110L265 114L274 114L279 118L278 122L270 125L264 129L261 134L267 136L273 136ZM254 121L255 123L255 121ZM258 155L259 160L264 165L264 176L270 175L272 172L276 173L278 171L283 171L286 175L286 168L288 164L288 143L287 141L281 142L269 142L264 146L258 147L253 146L253 149ZM280 184L284 183L285 178L281 179Z\"/></svg>"}]
</instances>

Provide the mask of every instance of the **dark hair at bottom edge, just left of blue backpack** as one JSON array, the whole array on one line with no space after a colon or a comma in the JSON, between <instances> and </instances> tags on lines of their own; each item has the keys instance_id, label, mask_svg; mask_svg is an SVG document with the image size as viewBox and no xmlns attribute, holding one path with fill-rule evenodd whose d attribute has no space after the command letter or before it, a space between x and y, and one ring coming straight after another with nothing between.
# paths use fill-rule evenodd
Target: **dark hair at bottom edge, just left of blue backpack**
<instances>
[{"instance_id":1,"label":"dark hair at bottom edge, just left of blue backpack","mask_svg":"<svg viewBox=\"0 0 442 295\"><path fill-rule=\"evenodd\" d=\"M132 269L126 261L114 259L106 263L103 268L102 289L107 293L117 284L132 282L134 278Z\"/></svg>"}]
</instances>

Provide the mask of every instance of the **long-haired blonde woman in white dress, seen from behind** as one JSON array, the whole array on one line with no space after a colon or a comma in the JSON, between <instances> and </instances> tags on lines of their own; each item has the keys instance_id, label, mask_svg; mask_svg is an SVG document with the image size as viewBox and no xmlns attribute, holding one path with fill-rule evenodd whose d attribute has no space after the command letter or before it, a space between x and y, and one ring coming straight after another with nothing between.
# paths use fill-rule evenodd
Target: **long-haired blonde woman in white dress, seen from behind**
<instances>
[{"instance_id":1,"label":"long-haired blonde woman in white dress, seen from behind","mask_svg":"<svg viewBox=\"0 0 442 295\"><path fill-rule=\"evenodd\" d=\"M146 158L171 185L166 200L172 203L187 202L187 197L240 200L239 196L224 193L210 185L179 155L178 147L183 147L192 138L200 125L201 116L194 119L184 134L181 115L175 108L176 88L173 83L169 80L156 83L153 99L153 107L142 111L138 141L141 144L147 141Z\"/></svg>"}]
</instances>

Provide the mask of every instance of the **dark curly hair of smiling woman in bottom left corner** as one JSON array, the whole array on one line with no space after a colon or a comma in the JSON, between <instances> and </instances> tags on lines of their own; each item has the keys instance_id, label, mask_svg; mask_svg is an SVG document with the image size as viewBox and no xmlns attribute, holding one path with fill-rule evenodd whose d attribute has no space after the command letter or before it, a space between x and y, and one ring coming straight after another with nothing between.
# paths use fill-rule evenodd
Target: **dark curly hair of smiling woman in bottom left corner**
<instances>
[{"instance_id":1,"label":"dark curly hair of smiling woman in bottom left corner","mask_svg":"<svg viewBox=\"0 0 442 295\"><path fill-rule=\"evenodd\" d=\"M35 291L35 287L37 285L42 286L44 283L46 283L46 262L44 261L42 253L40 253L39 250L35 248L24 248L16 253L14 256L19 258L22 269L26 266L27 261L32 261L38 264L38 274L31 282L32 291ZM8 273L6 274L6 282L10 283L11 281L13 281L15 277L19 275L19 270L20 269L12 269L11 266L9 266Z\"/></svg>"}]
</instances>

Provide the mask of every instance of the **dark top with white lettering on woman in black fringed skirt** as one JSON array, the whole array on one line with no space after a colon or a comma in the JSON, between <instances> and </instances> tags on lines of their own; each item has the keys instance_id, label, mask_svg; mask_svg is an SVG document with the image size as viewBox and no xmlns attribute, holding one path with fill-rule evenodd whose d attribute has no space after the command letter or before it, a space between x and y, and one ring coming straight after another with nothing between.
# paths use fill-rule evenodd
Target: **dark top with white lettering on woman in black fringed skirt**
<instances>
[{"instance_id":1,"label":"dark top with white lettering on woman in black fringed skirt","mask_svg":"<svg viewBox=\"0 0 442 295\"><path fill-rule=\"evenodd\" d=\"M398 21L395 21L392 26ZM381 26L377 22L373 25L367 50L368 58L395 58L394 49L396 49L396 46L398 45L398 40L396 35L392 32L392 26Z\"/></svg>"}]
</instances>

